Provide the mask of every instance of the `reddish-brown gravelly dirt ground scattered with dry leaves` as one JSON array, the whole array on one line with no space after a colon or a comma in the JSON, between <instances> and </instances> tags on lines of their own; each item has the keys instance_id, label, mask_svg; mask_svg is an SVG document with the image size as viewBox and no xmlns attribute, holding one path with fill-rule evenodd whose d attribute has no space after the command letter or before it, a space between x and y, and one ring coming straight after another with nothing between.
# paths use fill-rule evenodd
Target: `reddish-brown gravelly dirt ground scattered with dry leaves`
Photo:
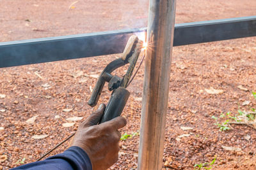
<instances>
[{"instance_id":1,"label":"reddish-brown gravelly dirt ground scattered with dry leaves","mask_svg":"<svg viewBox=\"0 0 256 170\"><path fill-rule=\"evenodd\" d=\"M176 23L251 16L255 9L255 0L180 0ZM146 27L147 13L146 0L1 1L0 41ZM116 57L0 69L0 169L33 162L76 131L83 120L67 118L92 113L86 103L95 77ZM256 108L255 66L256 38L173 48L163 169L193 169L214 157L212 169L256 169L255 129L231 124L229 131L219 131L212 118L234 122L238 110ZM142 66L129 87L123 112L128 124L122 134L134 136L120 142L120 159L110 169L137 167L143 71ZM107 103L109 96L105 89L99 102ZM34 139L36 134L45 136Z\"/></svg>"}]
</instances>

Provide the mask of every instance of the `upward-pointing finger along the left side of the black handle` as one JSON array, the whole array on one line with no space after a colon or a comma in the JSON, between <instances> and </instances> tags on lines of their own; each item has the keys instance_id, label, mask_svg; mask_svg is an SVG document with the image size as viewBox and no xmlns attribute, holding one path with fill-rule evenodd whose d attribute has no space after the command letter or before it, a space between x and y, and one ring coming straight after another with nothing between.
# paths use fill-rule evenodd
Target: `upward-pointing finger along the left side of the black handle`
<instances>
[{"instance_id":1,"label":"upward-pointing finger along the left side of the black handle","mask_svg":"<svg viewBox=\"0 0 256 170\"><path fill-rule=\"evenodd\" d=\"M99 108L93 112L90 117L86 118L86 120L84 120L86 126L92 126L92 125L97 125L100 121L100 118L102 117L104 110L105 110L106 106L105 104L100 104Z\"/></svg>"}]
</instances>

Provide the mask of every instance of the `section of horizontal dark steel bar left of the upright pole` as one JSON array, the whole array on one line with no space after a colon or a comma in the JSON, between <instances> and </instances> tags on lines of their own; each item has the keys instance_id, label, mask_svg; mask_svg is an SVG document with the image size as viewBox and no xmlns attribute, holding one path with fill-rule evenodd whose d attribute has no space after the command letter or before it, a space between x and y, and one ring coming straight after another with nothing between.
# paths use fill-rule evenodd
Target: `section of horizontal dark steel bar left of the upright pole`
<instances>
[{"instance_id":1,"label":"section of horizontal dark steel bar left of the upright pole","mask_svg":"<svg viewBox=\"0 0 256 170\"><path fill-rule=\"evenodd\" d=\"M133 32L108 31L0 43L0 67L122 53Z\"/></svg>"}]
</instances>

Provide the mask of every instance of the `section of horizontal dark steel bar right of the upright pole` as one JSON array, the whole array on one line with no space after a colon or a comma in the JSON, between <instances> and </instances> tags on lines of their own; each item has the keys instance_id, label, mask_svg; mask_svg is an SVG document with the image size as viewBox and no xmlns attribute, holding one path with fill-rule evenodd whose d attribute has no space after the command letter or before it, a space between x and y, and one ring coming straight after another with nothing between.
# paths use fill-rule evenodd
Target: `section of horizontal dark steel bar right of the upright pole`
<instances>
[{"instance_id":1,"label":"section of horizontal dark steel bar right of the upright pole","mask_svg":"<svg viewBox=\"0 0 256 170\"><path fill-rule=\"evenodd\" d=\"M256 36L256 16L175 25L173 46Z\"/></svg>"}]
</instances>

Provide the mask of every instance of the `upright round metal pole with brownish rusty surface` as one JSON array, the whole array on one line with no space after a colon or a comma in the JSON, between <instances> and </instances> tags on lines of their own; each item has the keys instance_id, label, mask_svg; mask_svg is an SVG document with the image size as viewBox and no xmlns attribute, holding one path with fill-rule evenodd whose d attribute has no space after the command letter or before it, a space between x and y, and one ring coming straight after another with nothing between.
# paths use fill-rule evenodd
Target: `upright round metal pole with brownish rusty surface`
<instances>
[{"instance_id":1,"label":"upright round metal pole with brownish rusty surface","mask_svg":"<svg viewBox=\"0 0 256 170\"><path fill-rule=\"evenodd\" d=\"M176 0L150 0L149 4L139 170L163 166L175 6Z\"/></svg>"}]
</instances>

